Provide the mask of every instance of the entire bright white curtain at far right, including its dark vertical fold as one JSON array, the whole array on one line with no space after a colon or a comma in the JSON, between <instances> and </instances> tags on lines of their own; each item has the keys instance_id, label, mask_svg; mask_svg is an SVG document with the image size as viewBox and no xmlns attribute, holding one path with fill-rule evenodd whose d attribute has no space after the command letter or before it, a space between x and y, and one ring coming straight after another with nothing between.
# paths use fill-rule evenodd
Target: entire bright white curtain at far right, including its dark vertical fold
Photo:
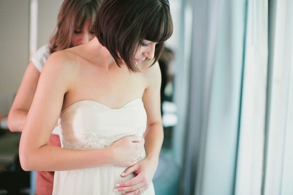
<instances>
[{"instance_id":1,"label":"entire bright white curtain at far right, including its dark vertical fold","mask_svg":"<svg viewBox=\"0 0 293 195\"><path fill-rule=\"evenodd\" d=\"M293 1L249 0L236 195L293 194Z\"/></svg>"}]
</instances>

